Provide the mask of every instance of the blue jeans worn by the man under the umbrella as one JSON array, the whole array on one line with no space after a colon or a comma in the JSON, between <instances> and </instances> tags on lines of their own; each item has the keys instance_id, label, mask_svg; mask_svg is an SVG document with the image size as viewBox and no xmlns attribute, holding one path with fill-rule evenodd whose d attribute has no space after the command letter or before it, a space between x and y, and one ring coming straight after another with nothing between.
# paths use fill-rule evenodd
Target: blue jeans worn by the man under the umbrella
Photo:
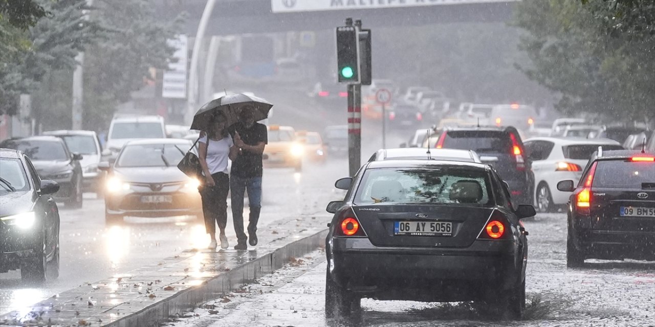
<instances>
[{"instance_id":1,"label":"blue jeans worn by the man under the umbrella","mask_svg":"<svg viewBox=\"0 0 655 327\"><path fill-rule=\"evenodd\" d=\"M248 233L257 231L257 221L261 211L261 177L230 176L230 190L232 201L232 219L234 232L239 244L245 244L248 236L244 232L244 194L248 192L250 202L250 217L248 220Z\"/></svg>"}]
</instances>

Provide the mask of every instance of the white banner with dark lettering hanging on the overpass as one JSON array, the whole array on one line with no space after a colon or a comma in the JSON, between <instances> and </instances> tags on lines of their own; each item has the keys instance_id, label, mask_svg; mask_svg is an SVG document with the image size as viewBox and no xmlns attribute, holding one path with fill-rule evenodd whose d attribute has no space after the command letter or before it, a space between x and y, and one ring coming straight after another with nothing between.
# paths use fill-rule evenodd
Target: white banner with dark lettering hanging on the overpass
<instances>
[{"instance_id":1,"label":"white banner with dark lettering hanging on the overpass","mask_svg":"<svg viewBox=\"0 0 655 327\"><path fill-rule=\"evenodd\" d=\"M385 9L466 3L499 3L520 0L271 0L271 11L306 12L324 10Z\"/></svg>"}]
</instances>

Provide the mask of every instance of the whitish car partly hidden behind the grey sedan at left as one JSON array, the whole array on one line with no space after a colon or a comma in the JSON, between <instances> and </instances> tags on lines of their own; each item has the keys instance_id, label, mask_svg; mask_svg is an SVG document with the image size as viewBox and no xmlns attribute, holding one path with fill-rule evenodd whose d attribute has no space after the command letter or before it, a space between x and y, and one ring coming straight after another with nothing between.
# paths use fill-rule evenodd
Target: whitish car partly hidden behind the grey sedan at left
<instances>
[{"instance_id":1,"label":"whitish car partly hidden behind the grey sedan at left","mask_svg":"<svg viewBox=\"0 0 655 327\"><path fill-rule=\"evenodd\" d=\"M73 153L82 155L83 190L102 194L104 188L104 173L98 169L98 163L103 161L102 146L95 131L46 131L43 135L52 135L64 139L64 143Z\"/></svg>"}]
</instances>

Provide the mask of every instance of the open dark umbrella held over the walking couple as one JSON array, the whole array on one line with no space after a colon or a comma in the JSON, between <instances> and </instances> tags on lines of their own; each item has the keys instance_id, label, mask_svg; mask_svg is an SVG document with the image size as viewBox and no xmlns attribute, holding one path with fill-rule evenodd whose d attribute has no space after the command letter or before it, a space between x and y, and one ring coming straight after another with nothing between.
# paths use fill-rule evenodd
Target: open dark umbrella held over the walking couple
<instances>
[{"instance_id":1,"label":"open dark umbrella held over the walking couple","mask_svg":"<svg viewBox=\"0 0 655 327\"><path fill-rule=\"evenodd\" d=\"M238 122L238 114L245 105L252 105L255 108L255 122L268 118L269 111L273 107L272 103L255 95L241 93L223 95L205 103L196 111L193 122L191 122L191 129L206 130L212 115L217 111L225 112L225 116L227 116L226 126L231 126Z\"/></svg>"}]
</instances>

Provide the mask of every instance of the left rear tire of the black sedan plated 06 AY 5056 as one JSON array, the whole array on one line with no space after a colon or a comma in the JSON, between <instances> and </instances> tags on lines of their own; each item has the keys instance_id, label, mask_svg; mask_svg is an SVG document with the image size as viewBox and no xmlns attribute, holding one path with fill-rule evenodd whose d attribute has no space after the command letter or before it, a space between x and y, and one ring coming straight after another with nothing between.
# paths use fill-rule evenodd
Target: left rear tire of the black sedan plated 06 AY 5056
<instances>
[{"instance_id":1,"label":"left rear tire of the black sedan plated 06 AY 5056","mask_svg":"<svg viewBox=\"0 0 655 327\"><path fill-rule=\"evenodd\" d=\"M328 268L329 269L329 268ZM362 310L362 299L333 281L326 272L326 318L353 318Z\"/></svg>"}]
</instances>

